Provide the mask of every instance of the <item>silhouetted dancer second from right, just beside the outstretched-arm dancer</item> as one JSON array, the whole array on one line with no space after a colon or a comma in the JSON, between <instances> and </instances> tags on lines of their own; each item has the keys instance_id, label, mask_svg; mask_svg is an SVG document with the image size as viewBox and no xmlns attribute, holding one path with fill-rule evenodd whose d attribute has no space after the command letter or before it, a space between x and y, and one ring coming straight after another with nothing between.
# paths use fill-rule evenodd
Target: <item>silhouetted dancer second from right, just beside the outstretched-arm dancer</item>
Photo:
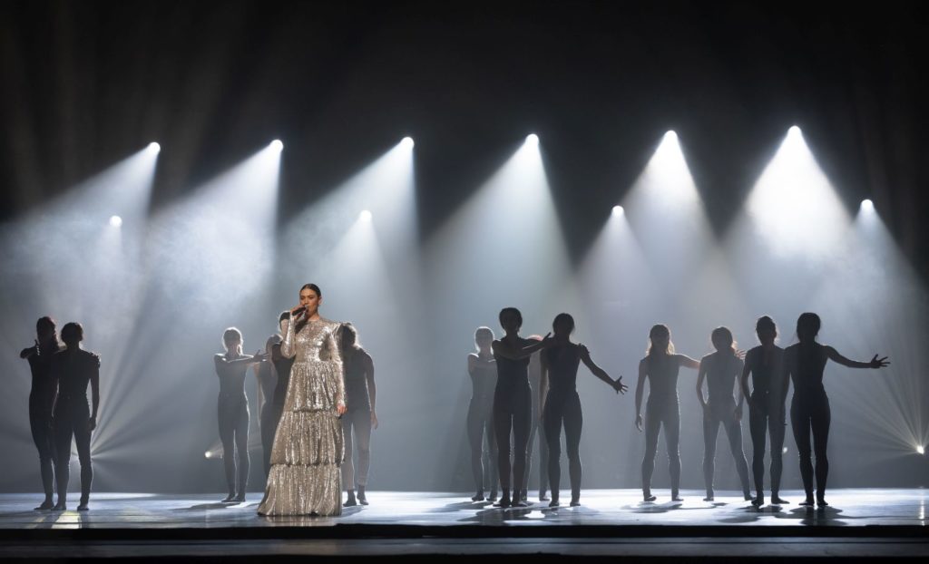
<instances>
[{"instance_id":1,"label":"silhouetted dancer second from right, just beside the outstretched-arm dancer","mask_svg":"<svg viewBox=\"0 0 929 564\"><path fill-rule=\"evenodd\" d=\"M784 349L774 344L778 326L768 316L755 323L760 347L745 355L742 369L742 396L749 402L749 428L752 431L752 474L757 492L752 505L765 505L765 435L771 436L771 503L789 503L782 499L780 474L783 469L784 401L787 398L788 379L784 374ZM749 392L749 374L752 374L752 391Z\"/></svg>"}]
</instances>

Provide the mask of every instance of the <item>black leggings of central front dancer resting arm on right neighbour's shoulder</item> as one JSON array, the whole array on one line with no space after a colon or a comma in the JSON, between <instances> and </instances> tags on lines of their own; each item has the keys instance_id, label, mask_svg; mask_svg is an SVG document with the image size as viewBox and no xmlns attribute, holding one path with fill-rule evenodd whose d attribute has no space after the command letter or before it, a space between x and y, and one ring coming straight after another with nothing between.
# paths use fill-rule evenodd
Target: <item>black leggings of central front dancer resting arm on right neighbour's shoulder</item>
<instances>
[{"instance_id":1,"label":"black leggings of central front dancer resting arm on right neighbour's shoulder","mask_svg":"<svg viewBox=\"0 0 929 564\"><path fill-rule=\"evenodd\" d=\"M497 468L500 487L521 487L526 477L526 448L532 417L532 388L497 389L493 395L493 427L497 435ZM513 481L510 481L510 429L513 429Z\"/></svg>"}]
</instances>

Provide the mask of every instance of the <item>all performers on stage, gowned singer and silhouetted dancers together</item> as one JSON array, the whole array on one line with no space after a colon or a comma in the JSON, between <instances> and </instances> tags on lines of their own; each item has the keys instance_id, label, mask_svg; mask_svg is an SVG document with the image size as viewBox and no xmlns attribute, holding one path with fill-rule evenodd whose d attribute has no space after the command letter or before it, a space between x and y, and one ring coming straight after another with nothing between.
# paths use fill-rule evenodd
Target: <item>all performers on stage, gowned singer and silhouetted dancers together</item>
<instances>
[{"instance_id":1,"label":"all performers on stage, gowned singer and silhouetted dancers together","mask_svg":"<svg viewBox=\"0 0 929 564\"><path fill-rule=\"evenodd\" d=\"M244 354L242 333L233 327L223 334L225 352L214 357L219 379L217 422L229 487L229 495L223 502L245 501L250 471L250 413L245 380L251 369L258 381L259 422L267 477L258 514L337 516L343 506L368 504L365 490L371 467L371 435L378 425L374 364L361 348L358 331L350 322L321 317L319 286L305 284L300 288L299 300L297 306L281 313L281 333L268 338L264 351ZM628 387L622 383L622 376L611 378L593 361L586 347L570 340L574 319L569 314L556 316L551 333L530 338L519 334L522 315L517 308L504 308L499 320L504 336L495 339L490 328L478 328L475 334L477 352L467 358L473 384L467 431L477 485L472 500L490 499L500 507L529 504L529 449L541 422L538 434L543 462L539 499L549 501L551 507L560 505L558 484L563 428L569 461L570 505L580 505L583 415L576 385L580 364L583 362L592 374L618 394L624 394ZM651 477L662 428L668 447L671 496L673 500L680 500L677 377L680 368L685 367L699 370L697 394L703 406L707 501L713 500L713 460L722 425L736 460L745 499L751 500L753 505L765 503L765 442L769 436L771 502L787 503L779 496L779 485L786 426L784 406L792 383L790 420L806 493L802 505L827 505L830 408L823 387L826 363L836 361L851 368L882 368L889 362L886 357L879 359L878 355L866 362L846 359L834 348L817 342L819 326L817 314L804 313L797 320L799 342L784 349L775 344L778 334L775 322L770 317L762 317L756 324L761 345L747 353L736 349L733 335L726 327L719 327L712 334L715 352L700 361L675 353L667 326L659 324L651 328L648 353L639 362L635 387L635 426L645 431L646 438L642 461L645 502L656 500L651 492ZM62 327L63 345L59 343L56 324L51 318L37 321L36 334L34 346L20 353L20 358L27 359L32 370L30 424L46 494L45 501L36 509L67 509L73 439L81 466L78 510L86 510L93 480L90 437L97 426L100 359L81 348L84 328L79 323L69 322ZM531 384L530 374L533 376ZM708 397L703 393L704 382ZM649 394L643 416L646 383ZM533 393L533 384L536 393ZM92 391L89 402L87 387ZM735 389L739 390L738 403L733 396ZM750 491L748 465L741 447L740 421L745 401L749 404L754 450L755 496ZM357 472L353 451L357 451ZM483 460L486 453L491 454L487 465L491 484L487 497ZM813 453L816 454L815 468ZM546 481L551 498L546 494ZM497 483L500 484L499 500ZM344 503L343 484L347 490ZM53 500L56 489L57 503Z\"/></svg>"}]
</instances>

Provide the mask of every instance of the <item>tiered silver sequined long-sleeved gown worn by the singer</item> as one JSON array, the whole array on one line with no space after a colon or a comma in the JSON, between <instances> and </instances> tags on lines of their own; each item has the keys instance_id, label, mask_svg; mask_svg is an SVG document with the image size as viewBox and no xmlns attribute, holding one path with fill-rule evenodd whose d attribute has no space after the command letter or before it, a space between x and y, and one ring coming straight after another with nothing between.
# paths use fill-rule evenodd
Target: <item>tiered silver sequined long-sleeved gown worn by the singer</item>
<instances>
[{"instance_id":1,"label":"tiered silver sequined long-sleeved gown worn by the singer","mask_svg":"<svg viewBox=\"0 0 929 564\"><path fill-rule=\"evenodd\" d=\"M339 467L345 457L336 406L346 388L338 348L339 323L309 321L294 334L285 321L281 354L293 358L281 422L271 449L271 470L261 515L340 515Z\"/></svg>"}]
</instances>

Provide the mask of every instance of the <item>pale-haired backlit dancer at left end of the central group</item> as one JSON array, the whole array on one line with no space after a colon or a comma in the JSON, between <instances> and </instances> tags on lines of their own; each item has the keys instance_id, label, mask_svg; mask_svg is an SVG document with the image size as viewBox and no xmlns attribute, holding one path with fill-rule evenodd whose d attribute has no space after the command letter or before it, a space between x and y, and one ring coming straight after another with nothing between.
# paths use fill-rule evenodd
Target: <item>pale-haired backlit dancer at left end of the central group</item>
<instances>
[{"instance_id":1,"label":"pale-haired backlit dancer at left end of the central group","mask_svg":"<svg viewBox=\"0 0 929 564\"><path fill-rule=\"evenodd\" d=\"M485 476L491 502L497 500L497 437L493 428L493 391L497 387L497 361L493 359L490 327L474 332L478 352L467 356L467 374L471 378L471 401L467 406L467 439L471 447L471 475L475 494L471 501L484 501ZM486 438L486 443L485 443ZM487 445L485 449L484 446ZM484 460L487 460L485 472Z\"/></svg>"}]
</instances>

